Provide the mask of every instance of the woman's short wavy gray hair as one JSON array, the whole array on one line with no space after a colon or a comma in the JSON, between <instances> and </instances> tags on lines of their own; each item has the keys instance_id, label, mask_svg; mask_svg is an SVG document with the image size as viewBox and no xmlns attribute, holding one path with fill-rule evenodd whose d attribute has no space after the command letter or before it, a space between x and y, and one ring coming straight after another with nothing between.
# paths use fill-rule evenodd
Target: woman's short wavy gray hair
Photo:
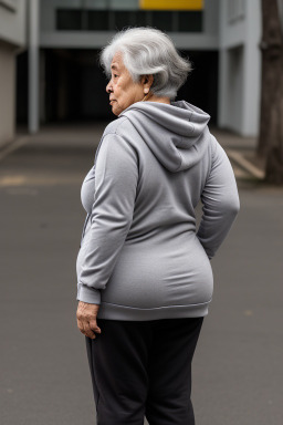
<instances>
[{"instance_id":1,"label":"woman's short wavy gray hair","mask_svg":"<svg viewBox=\"0 0 283 425\"><path fill-rule=\"evenodd\" d=\"M150 27L119 31L102 50L99 60L108 77L112 60L117 52L123 54L124 64L135 82L142 75L154 75L150 91L157 96L175 100L191 71L190 61L181 58L171 39Z\"/></svg>"}]
</instances>

